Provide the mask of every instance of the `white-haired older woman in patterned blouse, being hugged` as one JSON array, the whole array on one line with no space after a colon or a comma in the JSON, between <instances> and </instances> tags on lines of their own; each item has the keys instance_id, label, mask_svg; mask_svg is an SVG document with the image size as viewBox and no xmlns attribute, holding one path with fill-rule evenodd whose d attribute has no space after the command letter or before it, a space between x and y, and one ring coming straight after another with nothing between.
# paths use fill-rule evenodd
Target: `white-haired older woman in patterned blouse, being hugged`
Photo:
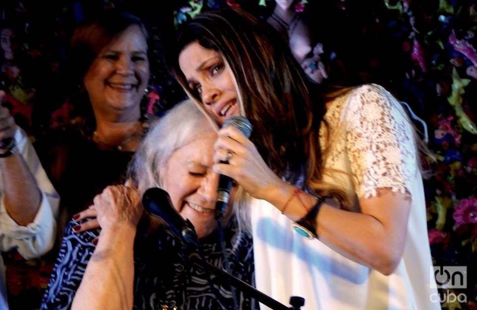
<instances>
[{"instance_id":1,"label":"white-haired older woman in patterned blouse, being hugged","mask_svg":"<svg viewBox=\"0 0 477 310\"><path fill-rule=\"evenodd\" d=\"M195 226L205 260L221 268L214 219L218 175L211 171L216 138L188 101L159 120L131 165L135 181L107 187L92 208L69 222L41 309L232 309L234 295L240 309L258 309L227 284L214 281L211 288L209 275L188 261L191 250L167 228L153 225L140 203L148 188L166 190L174 208ZM222 226L231 273L253 284L244 197L234 187ZM91 216L101 231L71 230Z\"/></svg>"}]
</instances>

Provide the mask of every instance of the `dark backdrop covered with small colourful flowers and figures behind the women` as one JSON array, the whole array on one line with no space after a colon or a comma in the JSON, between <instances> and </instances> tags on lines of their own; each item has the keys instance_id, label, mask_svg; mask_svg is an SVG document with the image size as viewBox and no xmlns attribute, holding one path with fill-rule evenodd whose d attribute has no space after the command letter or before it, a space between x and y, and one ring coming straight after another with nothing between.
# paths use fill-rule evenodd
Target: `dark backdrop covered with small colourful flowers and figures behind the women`
<instances>
[{"instance_id":1,"label":"dark backdrop covered with small colourful flowers and figures behind the women","mask_svg":"<svg viewBox=\"0 0 477 310\"><path fill-rule=\"evenodd\" d=\"M53 3L0 3L0 89L32 140L61 133L74 120L65 63L72 29L85 18L119 7L147 22L149 112L160 115L184 97L161 57L174 26L224 6L267 18L274 6L274 0ZM468 268L467 288L442 289L439 298L444 309L477 309L477 1L296 0L293 9L309 25L313 45L322 47L309 55L316 62L310 66L323 64L327 82L382 84L425 122L416 118L415 125L430 150L422 164L434 265ZM55 255L24 262L4 253L12 309L38 307Z\"/></svg>"}]
</instances>

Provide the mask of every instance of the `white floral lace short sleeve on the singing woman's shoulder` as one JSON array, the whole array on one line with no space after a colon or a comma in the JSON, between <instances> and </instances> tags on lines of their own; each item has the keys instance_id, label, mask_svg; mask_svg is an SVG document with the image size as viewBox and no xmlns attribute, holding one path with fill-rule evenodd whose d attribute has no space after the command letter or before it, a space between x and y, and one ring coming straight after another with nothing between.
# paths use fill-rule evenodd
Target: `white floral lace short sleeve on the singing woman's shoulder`
<instances>
[{"instance_id":1,"label":"white floral lace short sleeve on the singing woman's shoulder","mask_svg":"<svg viewBox=\"0 0 477 310\"><path fill-rule=\"evenodd\" d=\"M355 191L360 198L377 189L412 193L411 177L418 172L411 123L400 103L375 84L355 89L343 107L346 153Z\"/></svg>"}]
</instances>

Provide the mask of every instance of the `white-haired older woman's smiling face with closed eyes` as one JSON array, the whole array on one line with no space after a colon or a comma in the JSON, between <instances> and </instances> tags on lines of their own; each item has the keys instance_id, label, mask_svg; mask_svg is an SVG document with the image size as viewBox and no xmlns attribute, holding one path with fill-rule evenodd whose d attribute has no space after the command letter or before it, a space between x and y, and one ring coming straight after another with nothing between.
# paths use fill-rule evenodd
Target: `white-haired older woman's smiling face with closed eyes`
<instances>
[{"instance_id":1,"label":"white-haired older woman's smiling face with closed eyes","mask_svg":"<svg viewBox=\"0 0 477 310\"><path fill-rule=\"evenodd\" d=\"M212 172L213 144L217 136L204 134L199 139L176 150L163 170L162 187L170 197L174 208L194 225L199 238L217 228L215 201L217 199L218 174ZM234 199L235 188L231 199ZM228 219L231 207L226 210Z\"/></svg>"}]
</instances>

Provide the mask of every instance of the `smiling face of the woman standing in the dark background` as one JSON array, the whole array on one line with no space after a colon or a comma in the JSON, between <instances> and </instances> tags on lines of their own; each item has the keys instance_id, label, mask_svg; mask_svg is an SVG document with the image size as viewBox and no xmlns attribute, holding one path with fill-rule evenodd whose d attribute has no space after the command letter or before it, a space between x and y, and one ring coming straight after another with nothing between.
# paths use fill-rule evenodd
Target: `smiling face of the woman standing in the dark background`
<instances>
[{"instance_id":1,"label":"smiling face of the woman standing in the dark background","mask_svg":"<svg viewBox=\"0 0 477 310\"><path fill-rule=\"evenodd\" d=\"M128 27L103 48L89 67L84 86L95 111L139 110L149 79L147 42L137 25Z\"/></svg>"}]
</instances>

